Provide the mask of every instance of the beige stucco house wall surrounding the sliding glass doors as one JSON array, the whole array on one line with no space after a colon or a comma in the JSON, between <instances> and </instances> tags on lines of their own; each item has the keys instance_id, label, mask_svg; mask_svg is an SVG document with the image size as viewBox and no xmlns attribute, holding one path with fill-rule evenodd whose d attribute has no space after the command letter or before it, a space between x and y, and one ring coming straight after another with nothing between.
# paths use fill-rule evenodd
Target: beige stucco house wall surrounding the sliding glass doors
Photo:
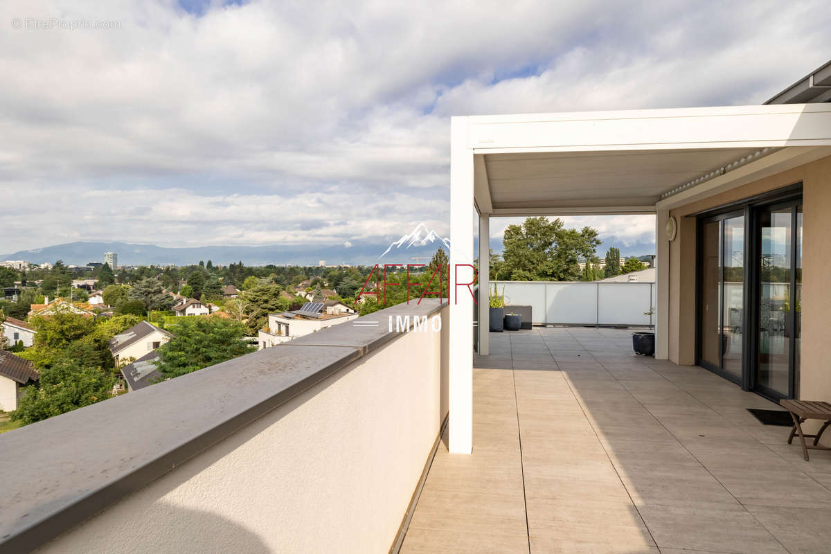
<instances>
[{"instance_id":1,"label":"beige stucco house wall surrounding the sliding glass doors","mask_svg":"<svg viewBox=\"0 0 831 554\"><path fill-rule=\"evenodd\" d=\"M669 248L669 358L695 363L696 219L685 216L799 182L804 201L800 390L804 399L831 401L831 157L671 210L679 230Z\"/></svg>"}]
</instances>

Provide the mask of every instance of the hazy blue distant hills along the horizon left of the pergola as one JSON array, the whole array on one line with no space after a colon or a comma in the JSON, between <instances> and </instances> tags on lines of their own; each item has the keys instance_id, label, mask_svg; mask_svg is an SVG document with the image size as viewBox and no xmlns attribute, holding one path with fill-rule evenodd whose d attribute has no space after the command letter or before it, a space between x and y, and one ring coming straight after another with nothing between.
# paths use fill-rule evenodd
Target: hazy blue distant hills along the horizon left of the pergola
<instances>
[{"instance_id":1,"label":"hazy blue distant hills along the horizon left of the pergola","mask_svg":"<svg viewBox=\"0 0 831 554\"><path fill-rule=\"evenodd\" d=\"M63 262L75 265L85 265L89 262L102 262L104 252L116 252L120 265L166 265L173 263L184 266L199 261L211 260L214 264L228 264L242 260L246 265L266 265L273 263L317 265L320 260L325 260L329 265L339 263L348 264L373 264L378 262L378 257L389 246L386 243L355 243L351 248L343 245L334 247L306 247L306 246L204 246L196 248L164 248L152 244L129 244L129 243L66 243L36 248L34 250L22 250L10 254L0 254L2 260L25 260L32 263ZM422 252L423 250L423 252ZM384 262L407 263L409 257L416 254L431 256L435 252L434 245L426 245L424 248L407 251L407 259L393 259L390 256Z\"/></svg>"}]
</instances>

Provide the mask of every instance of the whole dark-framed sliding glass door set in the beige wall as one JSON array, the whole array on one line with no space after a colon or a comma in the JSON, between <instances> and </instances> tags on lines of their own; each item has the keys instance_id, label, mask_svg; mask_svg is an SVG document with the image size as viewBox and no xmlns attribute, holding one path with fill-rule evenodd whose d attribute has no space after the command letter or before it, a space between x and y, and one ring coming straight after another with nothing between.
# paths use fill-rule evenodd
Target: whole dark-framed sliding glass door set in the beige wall
<instances>
[{"instance_id":1,"label":"whole dark-framed sliding glass door set in the beige wall","mask_svg":"<svg viewBox=\"0 0 831 554\"><path fill-rule=\"evenodd\" d=\"M697 227L696 363L772 400L799 398L802 185Z\"/></svg>"}]
</instances>

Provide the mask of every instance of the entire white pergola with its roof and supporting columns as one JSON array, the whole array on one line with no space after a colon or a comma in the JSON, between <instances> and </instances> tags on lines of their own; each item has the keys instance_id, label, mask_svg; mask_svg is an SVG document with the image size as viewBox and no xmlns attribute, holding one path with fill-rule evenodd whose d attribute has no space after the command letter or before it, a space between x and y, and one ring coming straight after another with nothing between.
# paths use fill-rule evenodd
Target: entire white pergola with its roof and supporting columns
<instances>
[{"instance_id":1,"label":"entire white pergola with its roof and supporting columns","mask_svg":"<svg viewBox=\"0 0 831 554\"><path fill-rule=\"evenodd\" d=\"M779 104L451 119L451 290L489 290L489 218L567 213L656 213L831 155L831 104ZM473 203L476 211L471 209ZM479 252L474 252L475 213ZM657 255L668 252L656 241ZM669 294L656 279L656 357L666 357ZM668 275L668 273L666 273ZM488 326L473 299L450 305L450 452L472 449L473 332L488 351ZM479 321L489 318L479 302Z\"/></svg>"}]
</instances>

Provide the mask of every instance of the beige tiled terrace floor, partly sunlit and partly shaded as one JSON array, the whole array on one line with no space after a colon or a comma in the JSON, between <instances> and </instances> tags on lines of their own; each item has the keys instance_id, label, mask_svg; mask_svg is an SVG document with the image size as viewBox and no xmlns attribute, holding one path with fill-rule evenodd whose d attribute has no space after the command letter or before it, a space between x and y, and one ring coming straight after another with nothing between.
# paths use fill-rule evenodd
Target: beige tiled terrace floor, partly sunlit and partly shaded
<instances>
[{"instance_id":1,"label":"beige tiled terrace floor, partly sunlit and partly shaded","mask_svg":"<svg viewBox=\"0 0 831 554\"><path fill-rule=\"evenodd\" d=\"M474 452L440 445L401 552L829 552L831 452L745 410L768 400L629 331L490 337Z\"/></svg>"}]
</instances>

